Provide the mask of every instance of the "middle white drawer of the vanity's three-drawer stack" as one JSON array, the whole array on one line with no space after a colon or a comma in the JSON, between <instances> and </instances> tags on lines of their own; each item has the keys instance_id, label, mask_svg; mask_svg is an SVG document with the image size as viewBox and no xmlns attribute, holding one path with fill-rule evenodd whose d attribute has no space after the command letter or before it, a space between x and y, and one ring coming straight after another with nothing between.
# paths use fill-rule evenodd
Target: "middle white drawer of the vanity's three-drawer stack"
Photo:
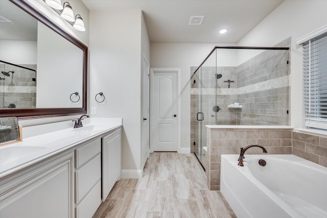
<instances>
[{"instance_id":1,"label":"middle white drawer of the vanity's three-drawer stack","mask_svg":"<svg viewBox=\"0 0 327 218\"><path fill-rule=\"evenodd\" d=\"M76 204L78 204L91 188L101 181L101 155L99 154L77 170L75 179Z\"/></svg>"}]
</instances>

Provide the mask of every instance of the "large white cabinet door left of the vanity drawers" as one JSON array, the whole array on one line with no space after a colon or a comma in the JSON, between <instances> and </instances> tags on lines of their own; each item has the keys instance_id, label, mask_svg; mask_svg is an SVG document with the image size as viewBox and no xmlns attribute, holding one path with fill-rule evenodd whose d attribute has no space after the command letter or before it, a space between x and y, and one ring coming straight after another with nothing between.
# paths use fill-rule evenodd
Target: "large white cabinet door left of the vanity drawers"
<instances>
[{"instance_id":1,"label":"large white cabinet door left of the vanity drawers","mask_svg":"<svg viewBox=\"0 0 327 218\"><path fill-rule=\"evenodd\" d=\"M1 194L0 217L72 217L73 160L72 153L64 160L60 158L48 164L48 167L36 176L30 176L35 175L33 171L22 176L27 180Z\"/></svg>"}]
</instances>

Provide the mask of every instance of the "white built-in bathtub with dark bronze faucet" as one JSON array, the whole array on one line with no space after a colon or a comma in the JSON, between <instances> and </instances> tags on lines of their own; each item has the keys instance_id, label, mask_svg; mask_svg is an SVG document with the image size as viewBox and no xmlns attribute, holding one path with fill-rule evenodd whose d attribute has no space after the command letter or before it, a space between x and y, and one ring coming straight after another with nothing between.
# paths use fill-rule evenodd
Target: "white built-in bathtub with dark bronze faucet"
<instances>
[{"instance_id":1,"label":"white built-in bathtub with dark bronze faucet","mask_svg":"<svg viewBox=\"0 0 327 218\"><path fill-rule=\"evenodd\" d=\"M327 217L327 168L294 155L221 156L220 190L238 218ZM260 166L259 160L266 161Z\"/></svg>"}]
</instances>

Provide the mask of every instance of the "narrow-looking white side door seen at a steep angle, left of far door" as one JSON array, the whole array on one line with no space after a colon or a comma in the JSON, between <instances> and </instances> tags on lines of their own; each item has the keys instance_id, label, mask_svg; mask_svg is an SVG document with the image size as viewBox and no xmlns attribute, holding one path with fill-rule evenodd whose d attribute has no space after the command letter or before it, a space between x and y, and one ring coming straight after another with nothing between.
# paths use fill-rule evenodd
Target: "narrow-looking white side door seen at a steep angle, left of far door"
<instances>
[{"instance_id":1,"label":"narrow-looking white side door seen at a steep angle, left of far door","mask_svg":"<svg viewBox=\"0 0 327 218\"><path fill-rule=\"evenodd\" d=\"M142 74L142 168L149 157L149 102L150 102L150 66L147 59L143 56L143 74Z\"/></svg>"}]
</instances>

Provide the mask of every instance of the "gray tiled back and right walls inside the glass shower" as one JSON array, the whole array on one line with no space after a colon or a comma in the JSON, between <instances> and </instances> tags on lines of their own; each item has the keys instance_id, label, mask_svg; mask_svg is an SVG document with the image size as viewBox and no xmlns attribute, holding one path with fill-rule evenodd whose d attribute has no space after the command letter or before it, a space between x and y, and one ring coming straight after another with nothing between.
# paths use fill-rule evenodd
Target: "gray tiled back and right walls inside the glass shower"
<instances>
[{"instance_id":1,"label":"gray tiled back and right walls inside the glass shower","mask_svg":"<svg viewBox=\"0 0 327 218\"><path fill-rule=\"evenodd\" d=\"M291 39L285 39L275 47L290 47ZM197 72L191 79L191 152L198 150L200 112L200 87L202 82L202 111L205 124L218 125L288 125L290 87L289 51L269 50L240 64L238 67L201 67L202 78ZM196 70L191 67L191 75ZM217 72L216 72L217 71ZM216 79L215 74L222 74ZM228 88L226 80L232 80ZM194 83L195 80L195 83ZM217 95L216 95L217 82ZM213 106L222 109L214 113ZM240 109L228 109L228 104L240 102ZM205 128L204 128L205 129ZM202 144L206 144L206 131L202 132ZM194 145L195 142L195 145Z\"/></svg>"}]
</instances>

